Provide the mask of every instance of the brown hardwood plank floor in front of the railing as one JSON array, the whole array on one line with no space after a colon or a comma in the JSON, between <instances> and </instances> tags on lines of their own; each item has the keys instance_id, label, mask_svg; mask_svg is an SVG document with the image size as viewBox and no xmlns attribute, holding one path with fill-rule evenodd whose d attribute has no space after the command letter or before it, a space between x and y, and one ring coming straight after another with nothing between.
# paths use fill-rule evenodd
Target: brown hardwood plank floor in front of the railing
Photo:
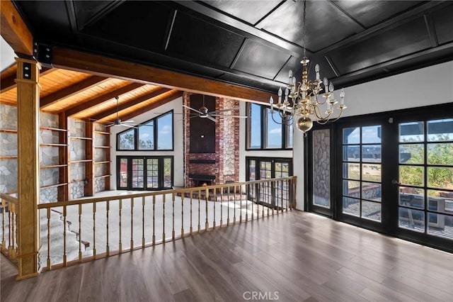
<instances>
[{"instance_id":1,"label":"brown hardwood plank floor in front of the railing","mask_svg":"<svg viewBox=\"0 0 453 302\"><path fill-rule=\"evenodd\" d=\"M292 211L16 281L1 301L453 301L453 255Z\"/></svg>"}]
</instances>

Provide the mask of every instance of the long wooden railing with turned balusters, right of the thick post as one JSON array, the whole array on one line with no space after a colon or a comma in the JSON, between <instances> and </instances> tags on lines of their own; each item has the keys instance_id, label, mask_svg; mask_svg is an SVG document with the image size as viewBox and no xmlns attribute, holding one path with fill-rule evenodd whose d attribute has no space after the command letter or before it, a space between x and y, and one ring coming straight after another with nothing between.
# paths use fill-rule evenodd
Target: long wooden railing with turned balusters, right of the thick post
<instances>
[{"instance_id":1,"label":"long wooden railing with turned balusters, right of the thick post","mask_svg":"<svg viewBox=\"0 0 453 302\"><path fill-rule=\"evenodd\" d=\"M279 215L294 208L295 185L296 177L286 177L39 204L40 267L66 267Z\"/></svg>"}]
</instances>

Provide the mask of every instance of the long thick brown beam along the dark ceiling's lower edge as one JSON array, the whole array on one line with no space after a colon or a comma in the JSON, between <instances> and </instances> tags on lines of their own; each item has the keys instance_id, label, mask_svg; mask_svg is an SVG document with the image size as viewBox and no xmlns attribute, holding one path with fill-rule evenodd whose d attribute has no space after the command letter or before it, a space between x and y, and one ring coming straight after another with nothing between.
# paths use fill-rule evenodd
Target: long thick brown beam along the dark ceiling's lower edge
<instances>
[{"instance_id":1,"label":"long thick brown beam along the dark ceiling's lower edge","mask_svg":"<svg viewBox=\"0 0 453 302\"><path fill-rule=\"evenodd\" d=\"M196 94L209 94L241 101L260 101L268 104L269 97L272 95L265 91L62 47L54 47L52 49L52 65L78 72L90 72L104 77L117 77L146 84L166 86L171 89L190 91ZM277 99L276 94L273 97Z\"/></svg>"}]
</instances>

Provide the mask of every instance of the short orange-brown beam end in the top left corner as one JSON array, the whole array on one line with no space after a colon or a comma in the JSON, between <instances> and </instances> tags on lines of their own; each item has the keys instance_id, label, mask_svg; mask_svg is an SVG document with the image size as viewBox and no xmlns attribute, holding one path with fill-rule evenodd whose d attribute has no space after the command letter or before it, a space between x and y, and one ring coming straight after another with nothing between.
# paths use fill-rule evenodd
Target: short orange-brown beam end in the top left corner
<instances>
[{"instance_id":1,"label":"short orange-brown beam end in the top left corner","mask_svg":"<svg viewBox=\"0 0 453 302\"><path fill-rule=\"evenodd\" d=\"M1 36L16 53L33 55L33 35L28 30L13 2L0 1Z\"/></svg>"}]
</instances>

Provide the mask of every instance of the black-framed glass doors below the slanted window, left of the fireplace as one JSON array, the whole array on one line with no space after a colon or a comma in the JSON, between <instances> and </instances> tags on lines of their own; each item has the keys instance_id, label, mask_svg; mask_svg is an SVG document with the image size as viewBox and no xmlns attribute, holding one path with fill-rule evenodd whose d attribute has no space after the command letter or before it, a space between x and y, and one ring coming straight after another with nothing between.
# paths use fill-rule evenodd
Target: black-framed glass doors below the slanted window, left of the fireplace
<instances>
[{"instance_id":1,"label":"black-framed glass doors below the slanted window, left of the fireplace","mask_svg":"<svg viewBox=\"0 0 453 302\"><path fill-rule=\"evenodd\" d=\"M173 157L117 157L117 189L161 190L173 186Z\"/></svg>"}]
</instances>

